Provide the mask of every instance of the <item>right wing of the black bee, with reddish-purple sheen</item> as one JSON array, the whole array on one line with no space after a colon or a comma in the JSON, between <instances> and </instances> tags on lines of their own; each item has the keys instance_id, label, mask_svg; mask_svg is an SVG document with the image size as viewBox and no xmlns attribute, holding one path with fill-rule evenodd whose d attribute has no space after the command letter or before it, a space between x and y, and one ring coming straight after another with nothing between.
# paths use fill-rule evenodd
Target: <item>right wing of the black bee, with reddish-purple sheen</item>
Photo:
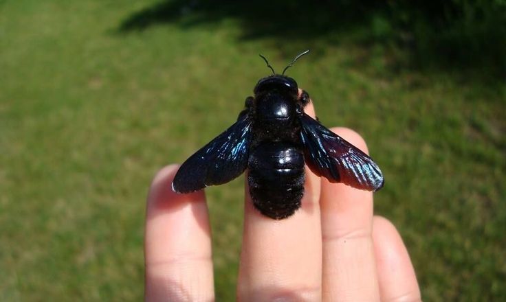
<instances>
[{"instance_id":1,"label":"right wing of the black bee, with reddish-purple sheen","mask_svg":"<svg viewBox=\"0 0 506 302\"><path fill-rule=\"evenodd\" d=\"M367 191L383 187L382 172L371 157L305 113L300 124L305 161L315 174Z\"/></svg>"}]
</instances>

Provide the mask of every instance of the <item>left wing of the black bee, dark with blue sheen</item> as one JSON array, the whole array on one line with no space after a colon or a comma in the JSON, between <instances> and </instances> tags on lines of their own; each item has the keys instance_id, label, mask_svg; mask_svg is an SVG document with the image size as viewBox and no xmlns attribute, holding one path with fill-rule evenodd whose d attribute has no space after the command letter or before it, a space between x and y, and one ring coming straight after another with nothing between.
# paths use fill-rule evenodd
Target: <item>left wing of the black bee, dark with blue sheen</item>
<instances>
[{"instance_id":1,"label":"left wing of the black bee, dark with blue sheen","mask_svg":"<svg viewBox=\"0 0 506 302\"><path fill-rule=\"evenodd\" d=\"M187 159L174 178L178 193L221 185L241 175L248 165L251 121L241 115L235 124Z\"/></svg>"}]
</instances>

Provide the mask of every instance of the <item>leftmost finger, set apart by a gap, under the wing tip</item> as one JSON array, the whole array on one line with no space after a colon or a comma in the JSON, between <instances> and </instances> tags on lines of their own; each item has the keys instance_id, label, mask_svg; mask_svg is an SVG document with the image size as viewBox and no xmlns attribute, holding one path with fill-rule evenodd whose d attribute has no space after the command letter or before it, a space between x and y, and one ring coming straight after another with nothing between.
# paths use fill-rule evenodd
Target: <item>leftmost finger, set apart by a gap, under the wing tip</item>
<instances>
[{"instance_id":1,"label":"leftmost finger, set apart by a gap, under the wing tip","mask_svg":"<svg viewBox=\"0 0 506 302\"><path fill-rule=\"evenodd\" d=\"M212 301L211 242L203 191L177 194L177 165L158 172L148 194L144 257L146 301Z\"/></svg>"}]
</instances>

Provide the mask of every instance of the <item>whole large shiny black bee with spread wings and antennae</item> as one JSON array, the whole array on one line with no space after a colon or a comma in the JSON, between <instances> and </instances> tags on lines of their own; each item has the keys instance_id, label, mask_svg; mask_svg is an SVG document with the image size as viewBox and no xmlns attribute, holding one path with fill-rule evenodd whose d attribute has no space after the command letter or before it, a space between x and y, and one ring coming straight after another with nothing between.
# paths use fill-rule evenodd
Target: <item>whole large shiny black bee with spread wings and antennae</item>
<instances>
[{"instance_id":1,"label":"whole large shiny black bee with spread wings and antennae","mask_svg":"<svg viewBox=\"0 0 506 302\"><path fill-rule=\"evenodd\" d=\"M254 207L274 219L292 216L304 194L306 163L312 172L332 183L376 191L384 185L380 167L364 152L304 113L309 94L285 71L277 74L260 55L272 75L261 78L254 97L235 124L187 159L174 178L178 193L221 185L248 168Z\"/></svg>"}]
</instances>

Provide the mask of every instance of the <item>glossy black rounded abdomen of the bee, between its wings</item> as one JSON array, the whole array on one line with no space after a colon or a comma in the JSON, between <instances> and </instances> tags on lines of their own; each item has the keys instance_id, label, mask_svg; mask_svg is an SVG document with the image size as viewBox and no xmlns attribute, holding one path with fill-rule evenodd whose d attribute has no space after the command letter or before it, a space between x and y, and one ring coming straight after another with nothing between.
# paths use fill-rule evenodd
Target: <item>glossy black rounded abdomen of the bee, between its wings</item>
<instances>
[{"instance_id":1,"label":"glossy black rounded abdomen of the bee, between its wings","mask_svg":"<svg viewBox=\"0 0 506 302\"><path fill-rule=\"evenodd\" d=\"M304 194L304 154L292 143L265 142L250 153L248 183L256 209L274 219L291 216Z\"/></svg>"}]
</instances>

